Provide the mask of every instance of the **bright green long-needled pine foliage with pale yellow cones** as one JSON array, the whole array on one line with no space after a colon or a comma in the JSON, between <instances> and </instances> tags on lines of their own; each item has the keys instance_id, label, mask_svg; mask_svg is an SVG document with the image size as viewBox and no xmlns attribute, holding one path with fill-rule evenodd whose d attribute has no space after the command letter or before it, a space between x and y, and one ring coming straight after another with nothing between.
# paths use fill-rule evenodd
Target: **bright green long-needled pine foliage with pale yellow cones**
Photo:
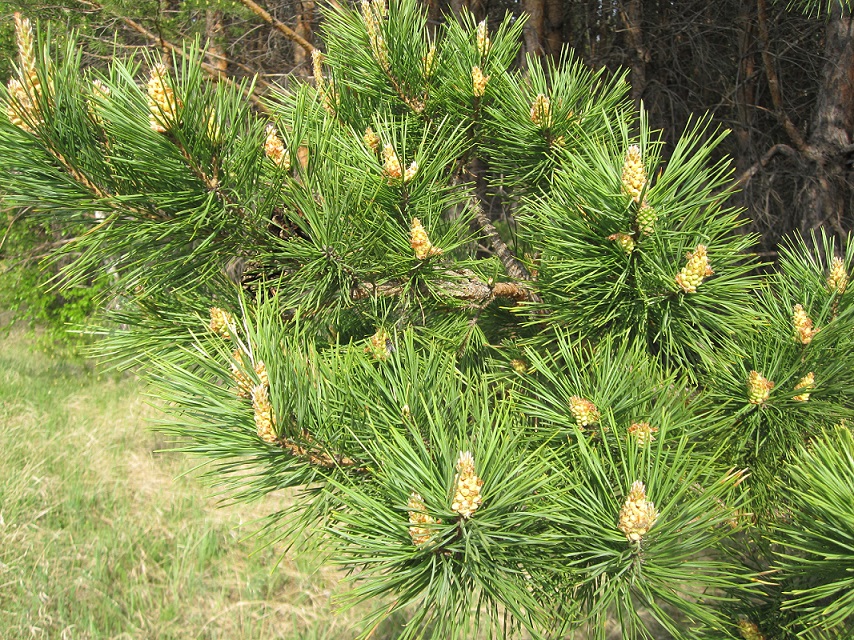
<instances>
[{"instance_id":1,"label":"bright green long-needled pine foliage with pale yellow cones","mask_svg":"<svg viewBox=\"0 0 854 640\"><path fill-rule=\"evenodd\" d=\"M17 20L7 203L83 225L104 354L214 484L297 491L269 526L366 637L852 629L854 243L760 269L723 134L414 0L327 9L263 113L197 46L95 74Z\"/></svg>"}]
</instances>

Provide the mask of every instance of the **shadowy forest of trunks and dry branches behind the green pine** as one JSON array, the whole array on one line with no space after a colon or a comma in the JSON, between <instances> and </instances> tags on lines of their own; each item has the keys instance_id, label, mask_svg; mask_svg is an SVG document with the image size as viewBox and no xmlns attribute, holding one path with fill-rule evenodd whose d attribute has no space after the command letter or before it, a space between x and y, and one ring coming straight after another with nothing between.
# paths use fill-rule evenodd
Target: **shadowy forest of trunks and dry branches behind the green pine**
<instances>
[{"instance_id":1,"label":"shadowy forest of trunks and dry branches behind the green pine","mask_svg":"<svg viewBox=\"0 0 854 640\"><path fill-rule=\"evenodd\" d=\"M331 0L333 3L336 0ZM733 158L729 204L746 208L744 233L761 235L773 259L793 230L825 227L844 237L854 222L854 30L838 3L822 18L769 0L426 0L431 22L471 11L498 24L527 13L524 56L571 47L592 69L629 69L631 96L663 131L665 159L691 118L709 112L732 131L718 154ZM180 50L208 42L207 71L257 76L255 93L311 74L323 48L315 0L88 0L0 2L0 81L14 58L14 11L80 29L87 62L139 47ZM709 131L713 131L710 127ZM711 134L710 134L711 135ZM44 247L33 247L33 255Z\"/></svg>"}]
</instances>

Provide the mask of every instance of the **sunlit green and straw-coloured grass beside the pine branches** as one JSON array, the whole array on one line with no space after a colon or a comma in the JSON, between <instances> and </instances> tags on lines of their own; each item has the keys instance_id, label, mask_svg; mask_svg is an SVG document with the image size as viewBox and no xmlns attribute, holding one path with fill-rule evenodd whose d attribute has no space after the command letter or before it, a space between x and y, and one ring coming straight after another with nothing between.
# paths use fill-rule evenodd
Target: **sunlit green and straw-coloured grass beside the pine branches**
<instances>
[{"instance_id":1,"label":"sunlit green and straw-coloured grass beside the pine branches","mask_svg":"<svg viewBox=\"0 0 854 640\"><path fill-rule=\"evenodd\" d=\"M357 635L334 571L253 554L286 498L217 508L178 477L193 460L157 453L154 413L130 378L0 340L0 638Z\"/></svg>"}]
</instances>

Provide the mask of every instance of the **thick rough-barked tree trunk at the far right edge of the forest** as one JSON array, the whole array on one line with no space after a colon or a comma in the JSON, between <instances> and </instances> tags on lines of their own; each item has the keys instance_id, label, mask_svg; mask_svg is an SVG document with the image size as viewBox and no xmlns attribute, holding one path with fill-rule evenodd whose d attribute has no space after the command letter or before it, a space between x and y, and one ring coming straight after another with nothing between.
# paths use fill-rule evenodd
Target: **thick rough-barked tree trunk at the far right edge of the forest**
<instances>
[{"instance_id":1,"label":"thick rough-barked tree trunk at the far right edge of the forest","mask_svg":"<svg viewBox=\"0 0 854 640\"><path fill-rule=\"evenodd\" d=\"M834 3L825 31L825 63L807 139L813 175L805 190L802 231L828 225L843 236L851 230L851 169L847 161L852 132L854 22L849 11Z\"/></svg>"}]
</instances>

